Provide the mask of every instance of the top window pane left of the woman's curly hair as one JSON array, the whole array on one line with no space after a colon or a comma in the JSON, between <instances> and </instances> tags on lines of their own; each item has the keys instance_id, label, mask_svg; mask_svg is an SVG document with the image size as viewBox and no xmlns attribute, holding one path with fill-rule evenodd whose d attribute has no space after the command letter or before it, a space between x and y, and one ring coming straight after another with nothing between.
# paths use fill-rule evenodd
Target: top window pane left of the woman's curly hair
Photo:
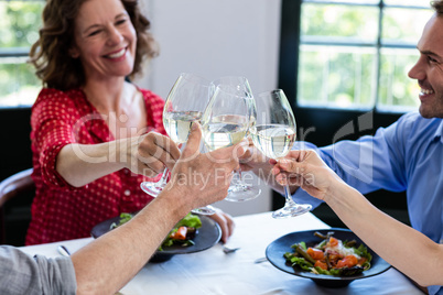
<instances>
[{"instance_id":1,"label":"top window pane left of the woman's curly hair","mask_svg":"<svg viewBox=\"0 0 443 295\"><path fill-rule=\"evenodd\" d=\"M44 1L0 1L0 47L30 47L39 39Z\"/></svg>"}]
</instances>

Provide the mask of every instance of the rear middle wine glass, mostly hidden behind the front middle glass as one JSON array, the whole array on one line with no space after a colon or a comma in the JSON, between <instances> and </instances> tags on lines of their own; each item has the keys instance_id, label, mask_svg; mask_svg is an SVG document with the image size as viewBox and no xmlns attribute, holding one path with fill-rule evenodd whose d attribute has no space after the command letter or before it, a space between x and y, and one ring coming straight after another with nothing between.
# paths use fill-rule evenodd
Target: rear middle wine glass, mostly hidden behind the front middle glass
<instances>
[{"instance_id":1,"label":"rear middle wine glass, mostly hidden behind the front middle glass","mask_svg":"<svg viewBox=\"0 0 443 295\"><path fill-rule=\"evenodd\" d=\"M249 132L249 128L251 128L252 124L256 122L256 102L253 100L252 96L252 90L249 86L249 81L245 77L240 76L226 76L218 78L213 81L214 87L219 87L220 90L224 90L224 92L230 91L235 96L237 96L237 99L244 99L246 101L246 107L247 107L247 117L248 117L248 131L245 133L245 136ZM227 94L220 94L218 95L226 96ZM248 97L248 98L244 98ZM235 100L236 98L234 98ZM229 113L231 110L229 108L236 108L236 103L231 106L226 106L226 110L220 110L220 111L227 111ZM244 110L240 110L244 111ZM241 175L241 170L239 168L236 171L231 184L228 188L228 195L226 196L225 200L229 201L246 201L246 200L251 200L256 197L258 197L261 193L261 189L258 188L257 186L253 186L251 184L247 184Z\"/></svg>"}]
</instances>

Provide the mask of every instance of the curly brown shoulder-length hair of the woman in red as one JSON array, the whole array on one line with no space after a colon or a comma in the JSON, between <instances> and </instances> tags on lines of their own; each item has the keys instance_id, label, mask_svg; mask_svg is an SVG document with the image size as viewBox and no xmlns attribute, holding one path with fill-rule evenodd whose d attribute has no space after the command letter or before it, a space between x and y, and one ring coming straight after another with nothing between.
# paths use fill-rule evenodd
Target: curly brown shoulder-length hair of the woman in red
<instances>
[{"instance_id":1,"label":"curly brown shoulder-length hair of the woman in red","mask_svg":"<svg viewBox=\"0 0 443 295\"><path fill-rule=\"evenodd\" d=\"M80 6L87 0L47 0L43 10L40 39L32 45L30 63L44 87L67 90L85 85L79 58L69 55L74 43L74 21ZM121 0L137 32L137 50L129 78L141 74L143 61L155 57L158 44L148 31L150 21L140 12L138 0Z\"/></svg>"}]
</instances>

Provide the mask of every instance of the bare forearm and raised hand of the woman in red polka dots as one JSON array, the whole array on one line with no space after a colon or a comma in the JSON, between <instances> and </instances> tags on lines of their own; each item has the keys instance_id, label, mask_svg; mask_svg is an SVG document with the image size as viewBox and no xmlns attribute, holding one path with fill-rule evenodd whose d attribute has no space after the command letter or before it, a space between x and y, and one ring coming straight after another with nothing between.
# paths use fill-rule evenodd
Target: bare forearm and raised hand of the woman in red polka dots
<instances>
[{"instance_id":1,"label":"bare forearm and raised hand of the woman in red polka dots","mask_svg":"<svg viewBox=\"0 0 443 295\"><path fill-rule=\"evenodd\" d=\"M125 167L154 176L164 166L172 170L179 156L171 139L150 132L99 144L67 144L57 154L56 171L68 184L80 187Z\"/></svg>"}]
</instances>

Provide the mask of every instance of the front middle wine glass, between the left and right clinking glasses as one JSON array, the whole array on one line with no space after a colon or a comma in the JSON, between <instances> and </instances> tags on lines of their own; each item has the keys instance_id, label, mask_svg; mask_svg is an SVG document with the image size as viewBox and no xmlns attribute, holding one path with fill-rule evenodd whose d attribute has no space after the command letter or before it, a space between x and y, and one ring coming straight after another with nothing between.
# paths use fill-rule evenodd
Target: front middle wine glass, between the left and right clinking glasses
<instances>
[{"instance_id":1,"label":"front middle wine glass, between the left and right clinking glasses","mask_svg":"<svg viewBox=\"0 0 443 295\"><path fill-rule=\"evenodd\" d=\"M244 89L217 86L203 118L203 140L209 151L241 142L250 125L250 103L253 98ZM228 200L242 201L255 198L260 192L248 194L250 186L241 187L236 196L228 193Z\"/></svg>"}]
</instances>

